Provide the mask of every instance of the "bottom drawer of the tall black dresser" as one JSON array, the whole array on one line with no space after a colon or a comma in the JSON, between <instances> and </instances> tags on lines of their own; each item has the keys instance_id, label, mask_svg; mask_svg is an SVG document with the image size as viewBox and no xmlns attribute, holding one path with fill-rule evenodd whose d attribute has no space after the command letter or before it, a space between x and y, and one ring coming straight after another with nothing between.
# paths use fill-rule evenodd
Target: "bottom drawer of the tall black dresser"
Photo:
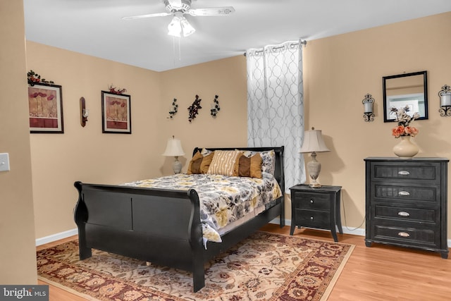
<instances>
[{"instance_id":1,"label":"bottom drawer of the tall black dresser","mask_svg":"<svg viewBox=\"0 0 451 301\"><path fill-rule=\"evenodd\" d=\"M374 225L372 239L397 245L438 247L440 236L431 228L403 228L397 226Z\"/></svg>"}]
</instances>

